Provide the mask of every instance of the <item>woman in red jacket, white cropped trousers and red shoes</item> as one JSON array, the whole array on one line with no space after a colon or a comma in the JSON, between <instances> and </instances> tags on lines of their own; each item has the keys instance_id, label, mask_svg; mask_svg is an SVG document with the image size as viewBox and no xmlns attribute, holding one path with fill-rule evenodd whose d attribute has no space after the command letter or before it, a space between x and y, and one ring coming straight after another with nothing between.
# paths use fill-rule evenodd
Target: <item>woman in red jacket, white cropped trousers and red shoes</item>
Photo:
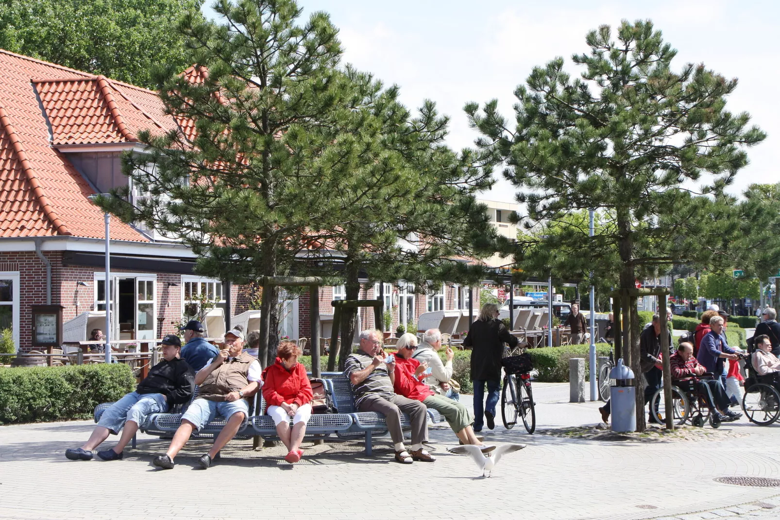
<instances>
[{"instance_id":1,"label":"woman in red jacket, white cropped trousers and red shoes","mask_svg":"<svg viewBox=\"0 0 780 520\"><path fill-rule=\"evenodd\" d=\"M311 383L306 367L298 362L302 353L292 341L282 341L277 349L276 362L263 372L263 397L268 403L268 415L274 418L279 439L289 452L285 461L300 461L303 450L300 443L306 434L306 423L311 416ZM293 429L290 429L290 418Z\"/></svg>"}]
</instances>

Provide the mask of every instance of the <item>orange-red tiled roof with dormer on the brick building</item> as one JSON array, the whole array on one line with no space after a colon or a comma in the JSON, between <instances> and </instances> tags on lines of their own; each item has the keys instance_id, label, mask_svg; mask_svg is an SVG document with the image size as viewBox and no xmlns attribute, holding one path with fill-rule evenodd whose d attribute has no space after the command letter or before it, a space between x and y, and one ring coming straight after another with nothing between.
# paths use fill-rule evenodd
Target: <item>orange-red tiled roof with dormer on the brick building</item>
<instances>
[{"instance_id":1,"label":"orange-red tiled roof with dormer on the brick building","mask_svg":"<svg viewBox=\"0 0 780 520\"><path fill-rule=\"evenodd\" d=\"M104 237L94 191L55 147L176 128L152 91L0 49L0 237ZM119 219L111 234L148 241Z\"/></svg>"}]
</instances>

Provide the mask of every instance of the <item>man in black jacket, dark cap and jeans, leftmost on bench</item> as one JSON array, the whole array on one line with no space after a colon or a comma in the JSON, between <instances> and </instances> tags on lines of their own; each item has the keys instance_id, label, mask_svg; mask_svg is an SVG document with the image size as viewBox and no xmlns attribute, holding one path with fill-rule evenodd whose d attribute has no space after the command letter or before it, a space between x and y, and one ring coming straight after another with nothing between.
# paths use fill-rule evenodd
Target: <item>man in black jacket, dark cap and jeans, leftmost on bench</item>
<instances>
[{"instance_id":1,"label":"man in black jacket, dark cap and jeans, leftmost on bench","mask_svg":"<svg viewBox=\"0 0 780 520\"><path fill-rule=\"evenodd\" d=\"M163 338L162 361L152 367L134 392L126 394L103 412L86 443L67 450L65 456L72 461L89 461L92 451L108 439L108 434L116 435L122 429L122 436L115 447L97 452L97 456L104 461L117 461L122 458L127 443L149 415L168 411L174 404L190 401L195 390L195 375L190 365L179 358L181 349L182 342L178 336L168 334Z\"/></svg>"}]
</instances>

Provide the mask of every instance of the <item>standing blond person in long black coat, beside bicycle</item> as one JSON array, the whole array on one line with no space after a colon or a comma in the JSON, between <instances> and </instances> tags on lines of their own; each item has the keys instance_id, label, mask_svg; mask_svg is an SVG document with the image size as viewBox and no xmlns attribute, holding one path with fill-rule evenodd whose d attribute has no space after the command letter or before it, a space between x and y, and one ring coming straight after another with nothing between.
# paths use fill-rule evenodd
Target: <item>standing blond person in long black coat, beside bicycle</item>
<instances>
[{"instance_id":1,"label":"standing blond person in long black coat, beside bicycle","mask_svg":"<svg viewBox=\"0 0 780 520\"><path fill-rule=\"evenodd\" d=\"M485 304L480 317L469 327L463 340L464 347L471 347L471 380L474 383L474 431L482 431L482 416L488 428L495 428L495 405L501 386L501 358L504 344L516 347L517 338L509 333L498 319L498 305ZM488 385L488 402L484 403L484 386Z\"/></svg>"}]
</instances>

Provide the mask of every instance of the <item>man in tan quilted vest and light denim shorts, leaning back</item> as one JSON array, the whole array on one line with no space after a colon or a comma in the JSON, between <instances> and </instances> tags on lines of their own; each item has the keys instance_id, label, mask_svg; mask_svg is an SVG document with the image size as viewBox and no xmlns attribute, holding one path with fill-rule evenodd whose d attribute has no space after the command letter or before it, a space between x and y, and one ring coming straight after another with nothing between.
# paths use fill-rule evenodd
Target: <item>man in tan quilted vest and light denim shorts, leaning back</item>
<instances>
[{"instance_id":1,"label":"man in tan quilted vest and light denim shorts, leaning back","mask_svg":"<svg viewBox=\"0 0 780 520\"><path fill-rule=\"evenodd\" d=\"M246 397L254 395L263 381L257 358L242 352L242 347L243 331L229 330L225 334L225 349L195 374L195 384L200 386L197 398L182 415L182 426L176 430L168 452L154 458L155 466L172 469L173 458L190 440L193 429L203 428L207 422L220 415L227 420L227 424L211 450L198 459L200 468L207 469L225 444L246 424L249 416Z\"/></svg>"}]
</instances>

